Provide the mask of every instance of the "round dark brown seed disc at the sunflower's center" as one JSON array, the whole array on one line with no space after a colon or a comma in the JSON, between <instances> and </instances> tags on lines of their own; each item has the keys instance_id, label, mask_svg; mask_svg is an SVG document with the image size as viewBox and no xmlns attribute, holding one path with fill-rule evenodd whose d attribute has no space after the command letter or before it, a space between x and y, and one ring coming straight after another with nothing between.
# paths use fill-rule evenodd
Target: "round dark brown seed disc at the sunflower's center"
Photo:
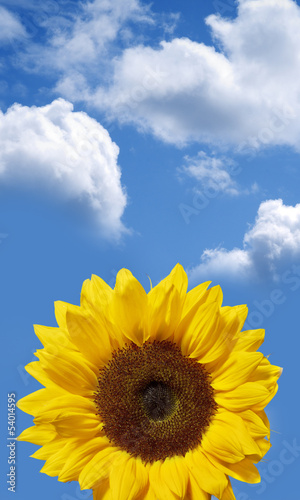
<instances>
[{"instance_id":1,"label":"round dark brown seed disc at the sunflower's center","mask_svg":"<svg viewBox=\"0 0 300 500\"><path fill-rule=\"evenodd\" d=\"M197 447L217 408L204 366L170 341L114 351L95 404L109 440L144 463Z\"/></svg>"}]
</instances>

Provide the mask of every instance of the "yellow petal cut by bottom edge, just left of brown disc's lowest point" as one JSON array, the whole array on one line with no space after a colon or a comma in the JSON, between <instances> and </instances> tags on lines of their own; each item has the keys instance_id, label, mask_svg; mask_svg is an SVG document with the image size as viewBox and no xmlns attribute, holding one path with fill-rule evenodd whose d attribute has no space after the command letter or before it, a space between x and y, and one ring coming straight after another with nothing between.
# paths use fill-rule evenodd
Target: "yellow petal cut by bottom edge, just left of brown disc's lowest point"
<instances>
[{"instance_id":1,"label":"yellow petal cut by bottom edge, just left of brown disc's lowest point","mask_svg":"<svg viewBox=\"0 0 300 500\"><path fill-rule=\"evenodd\" d=\"M122 456L112 465L110 487L112 500L135 500L146 490L148 472L139 458Z\"/></svg>"}]
</instances>

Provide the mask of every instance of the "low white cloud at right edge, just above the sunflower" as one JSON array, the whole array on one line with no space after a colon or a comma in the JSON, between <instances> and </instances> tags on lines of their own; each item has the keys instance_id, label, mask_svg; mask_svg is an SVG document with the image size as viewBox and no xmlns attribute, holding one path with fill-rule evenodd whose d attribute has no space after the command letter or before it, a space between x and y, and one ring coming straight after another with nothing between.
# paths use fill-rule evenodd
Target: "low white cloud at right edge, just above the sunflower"
<instances>
[{"instance_id":1,"label":"low white cloud at right edge, just above the sunflower","mask_svg":"<svg viewBox=\"0 0 300 500\"><path fill-rule=\"evenodd\" d=\"M261 203L255 223L242 248L207 249L201 263L190 269L191 281L209 277L228 279L277 279L284 267L300 260L300 204L284 205L281 199Z\"/></svg>"}]
</instances>

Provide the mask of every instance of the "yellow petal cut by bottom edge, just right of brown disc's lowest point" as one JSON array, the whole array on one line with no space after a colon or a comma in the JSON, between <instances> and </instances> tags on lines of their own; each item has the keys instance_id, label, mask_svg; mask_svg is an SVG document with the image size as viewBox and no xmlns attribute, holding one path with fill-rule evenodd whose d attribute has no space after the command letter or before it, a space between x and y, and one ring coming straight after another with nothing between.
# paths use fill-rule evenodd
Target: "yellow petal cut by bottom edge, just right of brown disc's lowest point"
<instances>
[{"instance_id":1,"label":"yellow petal cut by bottom edge, just right of brown disc's lowest point","mask_svg":"<svg viewBox=\"0 0 300 500\"><path fill-rule=\"evenodd\" d=\"M185 498L188 484L188 469L185 458L158 460L150 467L149 480L156 497L161 500Z\"/></svg>"}]
</instances>

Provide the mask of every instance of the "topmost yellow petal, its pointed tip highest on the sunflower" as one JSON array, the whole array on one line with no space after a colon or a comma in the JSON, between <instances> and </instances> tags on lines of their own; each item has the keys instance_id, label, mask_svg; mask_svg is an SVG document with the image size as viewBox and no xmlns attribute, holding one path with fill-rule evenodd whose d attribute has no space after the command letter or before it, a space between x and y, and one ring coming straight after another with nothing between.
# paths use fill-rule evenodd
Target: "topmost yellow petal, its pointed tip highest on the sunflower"
<instances>
[{"instance_id":1,"label":"topmost yellow petal, its pointed tip highest on the sunflower","mask_svg":"<svg viewBox=\"0 0 300 500\"><path fill-rule=\"evenodd\" d=\"M170 338L177 327L187 290L187 275L177 264L171 274L148 293L148 336Z\"/></svg>"}]
</instances>

